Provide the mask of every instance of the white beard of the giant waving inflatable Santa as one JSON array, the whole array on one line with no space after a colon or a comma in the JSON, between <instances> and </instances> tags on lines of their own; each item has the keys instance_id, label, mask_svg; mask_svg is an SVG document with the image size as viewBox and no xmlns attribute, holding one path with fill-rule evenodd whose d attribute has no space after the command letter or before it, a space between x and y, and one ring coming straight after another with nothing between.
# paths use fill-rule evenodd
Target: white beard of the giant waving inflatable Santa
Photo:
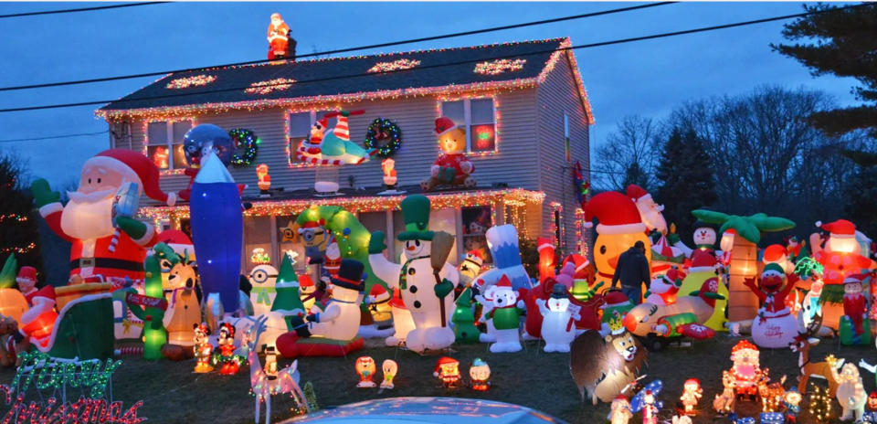
<instances>
[{"instance_id":1,"label":"white beard of the giant waving inflatable Santa","mask_svg":"<svg viewBox=\"0 0 877 424\"><path fill-rule=\"evenodd\" d=\"M111 236L112 199L115 190L84 195L69 192L70 201L61 212L61 229L71 238L82 240Z\"/></svg>"}]
</instances>

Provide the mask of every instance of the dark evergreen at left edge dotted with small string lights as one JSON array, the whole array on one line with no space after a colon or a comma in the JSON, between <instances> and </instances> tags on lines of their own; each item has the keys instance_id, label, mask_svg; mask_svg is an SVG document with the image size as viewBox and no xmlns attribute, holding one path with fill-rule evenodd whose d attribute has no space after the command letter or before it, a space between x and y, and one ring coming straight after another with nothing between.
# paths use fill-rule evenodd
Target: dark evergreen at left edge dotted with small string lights
<instances>
[{"instance_id":1,"label":"dark evergreen at left edge dotted with small string lights","mask_svg":"<svg viewBox=\"0 0 877 424\"><path fill-rule=\"evenodd\" d=\"M37 269L42 281L34 199L22 188L24 166L15 154L0 154L0 262L15 253L18 266Z\"/></svg>"}]
</instances>

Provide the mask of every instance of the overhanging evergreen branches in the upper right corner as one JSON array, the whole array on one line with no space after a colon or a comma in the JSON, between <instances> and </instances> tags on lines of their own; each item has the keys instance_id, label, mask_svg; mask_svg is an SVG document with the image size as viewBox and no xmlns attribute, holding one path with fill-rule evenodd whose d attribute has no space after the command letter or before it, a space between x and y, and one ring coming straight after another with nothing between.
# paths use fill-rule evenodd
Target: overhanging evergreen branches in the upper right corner
<instances>
[{"instance_id":1,"label":"overhanging evergreen branches in the upper right corner","mask_svg":"<svg viewBox=\"0 0 877 424\"><path fill-rule=\"evenodd\" d=\"M831 111L818 111L809 116L810 124L828 135L866 130L877 138L877 5L836 10L837 5L819 3L804 5L807 12L830 13L798 18L786 25L783 37L794 45L771 45L781 55L798 60L813 76L833 74L852 77L861 83L852 92L864 104ZM805 41L804 44L798 41ZM877 154L851 152L861 164L877 164Z\"/></svg>"}]
</instances>

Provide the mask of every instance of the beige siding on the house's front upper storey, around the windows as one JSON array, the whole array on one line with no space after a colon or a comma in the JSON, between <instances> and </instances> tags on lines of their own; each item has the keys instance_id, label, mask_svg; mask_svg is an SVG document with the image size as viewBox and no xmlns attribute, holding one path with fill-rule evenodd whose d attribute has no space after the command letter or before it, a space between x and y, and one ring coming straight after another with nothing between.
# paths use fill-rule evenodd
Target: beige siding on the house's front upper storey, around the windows
<instances>
[{"instance_id":1,"label":"beige siding on the house's front upper storey, around the windows","mask_svg":"<svg viewBox=\"0 0 877 424\"><path fill-rule=\"evenodd\" d=\"M556 71L555 71L556 73ZM472 157L475 177L480 187L492 183L507 183L510 187L539 189L536 154L536 89L503 92L498 95L497 120L499 128L498 154ZM368 125L378 117L390 119L402 131L402 145L393 158L400 185L417 185L429 174L429 167L439 154L439 143L433 134L439 116L438 98L411 98L386 101L368 101L340 105L344 110L365 109L364 115L350 118L351 140L362 145ZM333 104L332 106L339 106ZM328 109L328 108L326 108ZM333 120L334 121L334 120ZM330 122L330 127L334 125ZM286 111L229 111L195 117L195 123L213 123L223 129L251 129L259 136L256 164L268 164L272 187L286 190L310 188L316 167L291 167L287 161ZM133 148L143 151L143 122L132 125ZM345 165L341 168L339 183L347 186L348 175L354 175L355 186L378 186L383 183L380 157L366 164ZM231 167L238 183L247 184L245 196L258 194L256 167ZM162 188L177 192L188 184L185 175L162 176Z\"/></svg>"}]
</instances>

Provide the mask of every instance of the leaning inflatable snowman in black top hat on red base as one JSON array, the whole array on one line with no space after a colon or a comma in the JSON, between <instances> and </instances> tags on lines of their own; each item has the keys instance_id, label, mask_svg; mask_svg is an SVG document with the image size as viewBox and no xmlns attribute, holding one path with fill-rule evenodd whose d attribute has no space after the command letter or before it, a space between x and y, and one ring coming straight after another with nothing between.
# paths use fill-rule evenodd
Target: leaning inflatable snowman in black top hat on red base
<instances>
[{"instance_id":1,"label":"leaning inflatable snowman in black top hat on red base","mask_svg":"<svg viewBox=\"0 0 877 424\"><path fill-rule=\"evenodd\" d=\"M312 335L332 340L352 340L359 331L359 305L363 302L365 265L358 260L342 260L337 275L332 276L332 300L323 308L315 304L303 319L292 317L293 330L300 337Z\"/></svg>"}]
</instances>

